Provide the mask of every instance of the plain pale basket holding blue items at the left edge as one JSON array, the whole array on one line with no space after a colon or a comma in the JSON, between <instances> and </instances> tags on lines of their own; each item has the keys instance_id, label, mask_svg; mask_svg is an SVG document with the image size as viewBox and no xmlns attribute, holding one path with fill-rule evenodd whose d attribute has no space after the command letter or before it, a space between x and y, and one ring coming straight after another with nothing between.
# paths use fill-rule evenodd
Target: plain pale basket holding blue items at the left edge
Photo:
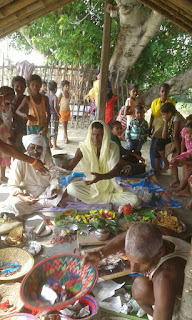
<instances>
[{"instance_id":1,"label":"plain pale basket holding blue items at the left edge","mask_svg":"<svg viewBox=\"0 0 192 320\"><path fill-rule=\"evenodd\" d=\"M1 249L0 261L0 280L18 279L34 265L33 257L21 248Z\"/></svg>"}]
</instances>

